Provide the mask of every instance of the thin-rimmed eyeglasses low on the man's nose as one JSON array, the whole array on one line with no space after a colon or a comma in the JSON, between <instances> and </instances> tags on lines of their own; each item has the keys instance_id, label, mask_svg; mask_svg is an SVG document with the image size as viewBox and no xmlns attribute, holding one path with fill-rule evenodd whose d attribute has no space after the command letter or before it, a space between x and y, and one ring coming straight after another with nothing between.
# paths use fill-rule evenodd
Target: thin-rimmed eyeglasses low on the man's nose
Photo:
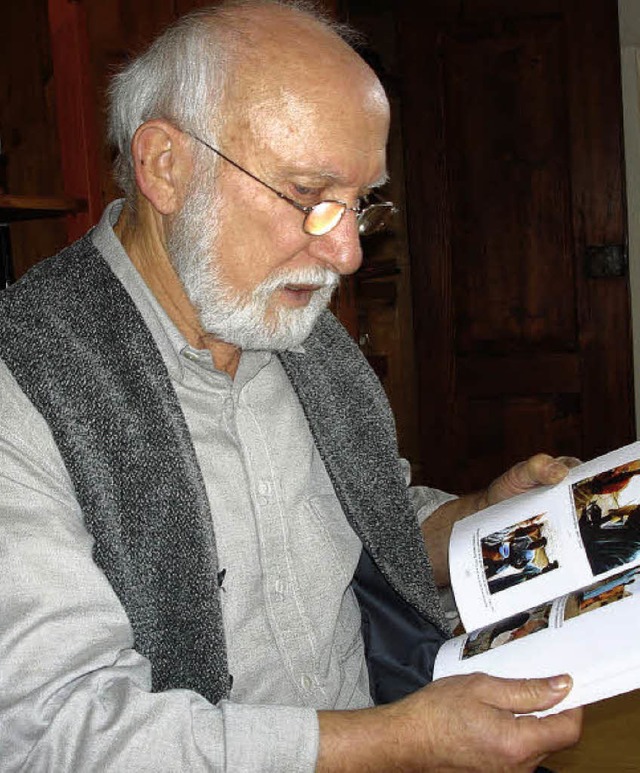
<instances>
[{"instance_id":1,"label":"thin-rimmed eyeglasses low on the man's nose","mask_svg":"<svg viewBox=\"0 0 640 773\"><path fill-rule=\"evenodd\" d=\"M264 185L265 188L268 188L272 193L275 193L276 196L283 201L286 201L299 212L302 212L304 214L302 230L310 236L324 236L329 233L329 231L333 230L342 220L342 216L345 212L355 212L356 222L358 224L358 234L360 236L369 236L370 234L378 233L386 228L390 218L397 212L392 202L380 200L370 203L369 197L363 199L357 207L348 207L344 201L334 201L333 199L320 201L312 207L305 207L303 204L289 198L289 196L286 196L276 188L272 188L271 185L264 182L264 180L256 177L247 169L240 166L240 164L237 164L229 158L229 156L225 156L220 150L214 148L213 145L209 145L208 142L200 139L200 137L197 137L192 132L184 131L184 134L187 134L189 137L196 140L196 142L209 148L209 150L212 150L216 155L220 156L220 158L223 158L228 164L235 166L236 169L244 172L244 174L251 177L252 180L260 183L260 185Z\"/></svg>"}]
</instances>

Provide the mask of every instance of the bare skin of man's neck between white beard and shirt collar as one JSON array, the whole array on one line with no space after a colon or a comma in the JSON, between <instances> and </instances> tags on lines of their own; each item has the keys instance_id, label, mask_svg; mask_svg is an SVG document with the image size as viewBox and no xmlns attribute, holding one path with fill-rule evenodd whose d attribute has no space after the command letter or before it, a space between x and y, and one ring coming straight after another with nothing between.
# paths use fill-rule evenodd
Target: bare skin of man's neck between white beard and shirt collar
<instances>
[{"instance_id":1,"label":"bare skin of man's neck between white beard and shirt collar","mask_svg":"<svg viewBox=\"0 0 640 773\"><path fill-rule=\"evenodd\" d=\"M242 352L202 329L169 258L160 216L144 205L133 215L125 205L113 230L156 300L189 345L195 349L208 349L216 368L233 378Z\"/></svg>"}]
</instances>

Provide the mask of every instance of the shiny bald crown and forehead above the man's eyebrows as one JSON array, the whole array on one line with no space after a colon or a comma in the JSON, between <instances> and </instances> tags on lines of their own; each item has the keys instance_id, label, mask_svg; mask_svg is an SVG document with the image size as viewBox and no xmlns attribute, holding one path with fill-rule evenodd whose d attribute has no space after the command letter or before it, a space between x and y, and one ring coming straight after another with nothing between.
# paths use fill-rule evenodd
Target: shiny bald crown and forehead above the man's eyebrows
<instances>
[{"instance_id":1,"label":"shiny bald crown and forehead above the man's eyebrows","mask_svg":"<svg viewBox=\"0 0 640 773\"><path fill-rule=\"evenodd\" d=\"M281 5L235 12L242 34L223 110L230 135L249 131L259 143L294 140L303 152L322 141L317 132L356 143L359 131L375 125L386 135L384 90L333 29Z\"/></svg>"}]
</instances>

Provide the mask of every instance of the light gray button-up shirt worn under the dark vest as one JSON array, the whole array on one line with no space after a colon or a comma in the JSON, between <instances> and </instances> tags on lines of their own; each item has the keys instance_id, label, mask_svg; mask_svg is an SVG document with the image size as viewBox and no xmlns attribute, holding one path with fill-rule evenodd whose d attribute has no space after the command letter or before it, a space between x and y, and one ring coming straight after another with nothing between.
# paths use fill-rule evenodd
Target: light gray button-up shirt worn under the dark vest
<instances>
[{"instance_id":1,"label":"light gray button-up shirt worn under the dark vest","mask_svg":"<svg viewBox=\"0 0 640 773\"><path fill-rule=\"evenodd\" d=\"M202 469L222 571L230 700L150 692L148 662L91 557L49 429L0 363L0 770L311 771L316 709L370 704L361 544L279 360L232 380L190 348L107 209L93 240L163 356ZM413 490L425 517L448 498Z\"/></svg>"}]
</instances>

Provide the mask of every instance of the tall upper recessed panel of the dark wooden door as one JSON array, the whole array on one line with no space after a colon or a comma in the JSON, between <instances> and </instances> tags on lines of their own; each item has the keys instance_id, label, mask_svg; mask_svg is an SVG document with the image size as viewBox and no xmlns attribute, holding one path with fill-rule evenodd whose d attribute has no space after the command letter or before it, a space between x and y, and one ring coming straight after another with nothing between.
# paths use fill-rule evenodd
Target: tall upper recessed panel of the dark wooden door
<instances>
[{"instance_id":1,"label":"tall upper recessed panel of the dark wooden door","mask_svg":"<svg viewBox=\"0 0 640 773\"><path fill-rule=\"evenodd\" d=\"M576 346L559 26L442 41L460 354ZM519 270L505 270L514 259Z\"/></svg>"}]
</instances>

